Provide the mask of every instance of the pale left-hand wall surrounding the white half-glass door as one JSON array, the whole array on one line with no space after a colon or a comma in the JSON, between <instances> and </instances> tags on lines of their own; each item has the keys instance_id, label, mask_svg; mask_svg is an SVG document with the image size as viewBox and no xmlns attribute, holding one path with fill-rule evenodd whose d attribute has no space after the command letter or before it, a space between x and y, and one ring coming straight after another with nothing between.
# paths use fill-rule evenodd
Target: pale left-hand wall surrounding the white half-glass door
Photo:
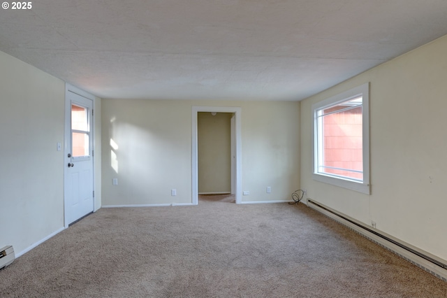
<instances>
[{"instance_id":1,"label":"pale left-hand wall surrounding the white half-glass door","mask_svg":"<svg viewBox=\"0 0 447 298\"><path fill-rule=\"evenodd\" d=\"M13 245L21 255L64 228L64 150L57 143L64 144L65 83L4 52L0 65L0 248Z\"/></svg>"}]
</instances>

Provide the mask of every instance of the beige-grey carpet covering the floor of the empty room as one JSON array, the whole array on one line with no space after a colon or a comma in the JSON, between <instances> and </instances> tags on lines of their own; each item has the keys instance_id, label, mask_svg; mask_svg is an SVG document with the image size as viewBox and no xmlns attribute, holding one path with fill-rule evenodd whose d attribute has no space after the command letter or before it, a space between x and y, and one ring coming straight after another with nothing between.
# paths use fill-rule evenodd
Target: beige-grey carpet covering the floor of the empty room
<instances>
[{"instance_id":1,"label":"beige-grey carpet covering the floor of the empty room","mask_svg":"<svg viewBox=\"0 0 447 298\"><path fill-rule=\"evenodd\" d=\"M0 270L1 297L447 297L300 204L102 208Z\"/></svg>"}]
</instances>

